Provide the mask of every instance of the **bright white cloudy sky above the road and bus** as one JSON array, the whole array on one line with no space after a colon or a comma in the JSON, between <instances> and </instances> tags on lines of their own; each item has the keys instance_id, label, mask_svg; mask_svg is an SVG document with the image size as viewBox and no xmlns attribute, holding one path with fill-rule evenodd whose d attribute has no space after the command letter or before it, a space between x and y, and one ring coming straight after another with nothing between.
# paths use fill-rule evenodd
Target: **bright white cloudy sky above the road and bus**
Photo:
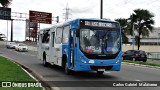
<instances>
[{"instance_id":1,"label":"bright white cloudy sky above the road and bus","mask_svg":"<svg viewBox=\"0 0 160 90\"><path fill-rule=\"evenodd\" d=\"M52 17L59 16L60 22L64 22L67 5L70 9L70 19L100 18L100 0L13 0L9 8L12 12L26 14L29 14L29 10L49 12L52 13ZM154 15L154 26L160 27L160 0L103 0L103 18L111 20L129 18L133 10L138 8L150 11ZM12 16L14 15L12 13ZM25 40L25 25L25 21L13 21L13 40ZM51 24L40 24L40 28L49 26ZM0 32L8 36L8 40L10 40L10 31L11 22L8 21L7 27L7 21L0 20Z\"/></svg>"}]
</instances>

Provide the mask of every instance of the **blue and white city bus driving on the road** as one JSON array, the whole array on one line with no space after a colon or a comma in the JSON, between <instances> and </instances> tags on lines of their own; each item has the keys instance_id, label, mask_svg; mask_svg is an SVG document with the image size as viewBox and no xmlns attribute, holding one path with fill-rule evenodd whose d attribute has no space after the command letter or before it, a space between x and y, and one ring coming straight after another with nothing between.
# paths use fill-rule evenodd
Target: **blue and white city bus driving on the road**
<instances>
[{"instance_id":1,"label":"blue and white city bus driving on the road","mask_svg":"<svg viewBox=\"0 0 160 90\"><path fill-rule=\"evenodd\" d=\"M120 71L122 35L116 21L78 18L39 30L38 57L71 71Z\"/></svg>"}]
</instances>

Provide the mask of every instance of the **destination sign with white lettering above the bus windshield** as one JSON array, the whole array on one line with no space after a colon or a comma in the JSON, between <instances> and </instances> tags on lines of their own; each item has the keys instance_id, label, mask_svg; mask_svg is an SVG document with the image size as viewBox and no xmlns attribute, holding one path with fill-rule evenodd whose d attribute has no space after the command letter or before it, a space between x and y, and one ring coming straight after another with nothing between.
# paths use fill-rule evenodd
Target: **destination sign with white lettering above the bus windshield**
<instances>
[{"instance_id":1,"label":"destination sign with white lettering above the bus windshield","mask_svg":"<svg viewBox=\"0 0 160 90\"><path fill-rule=\"evenodd\" d=\"M117 23L113 23L113 22L104 22L104 21L81 20L80 21L80 26L117 28L118 24Z\"/></svg>"}]
</instances>

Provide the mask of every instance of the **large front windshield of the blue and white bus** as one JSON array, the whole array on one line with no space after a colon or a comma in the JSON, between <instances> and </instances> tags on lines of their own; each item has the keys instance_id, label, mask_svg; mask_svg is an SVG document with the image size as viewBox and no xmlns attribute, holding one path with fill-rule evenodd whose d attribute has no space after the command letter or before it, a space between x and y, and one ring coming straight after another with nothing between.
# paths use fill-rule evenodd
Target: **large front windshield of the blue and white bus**
<instances>
[{"instance_id":1,"label":"large front windshield of the blue and white bus","mask_svg":"<svg viewBox=\"0 0 160 90\"><path fill-rule=\"evenodd\" d=\"M80 48L87 54L116 54L120 50L120 30L80 29Z\"/></svg>"}]
</instances>

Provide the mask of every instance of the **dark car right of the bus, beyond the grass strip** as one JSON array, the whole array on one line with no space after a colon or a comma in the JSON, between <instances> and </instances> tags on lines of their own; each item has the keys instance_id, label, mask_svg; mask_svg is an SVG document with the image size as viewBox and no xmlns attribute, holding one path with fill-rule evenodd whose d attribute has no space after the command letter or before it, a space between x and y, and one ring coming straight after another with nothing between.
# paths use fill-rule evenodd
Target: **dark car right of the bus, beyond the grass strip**
<instances>
[{"instance_id":1,"label":"dark car right of the bus, beyond the grass strip","mask_svg":"<svg viewBox=\"0 0 160 90\"><path fill-rule=\"evenodd\" d=\"M123 54L123 60L147 61L146 52L143 50L128 50Z\"/></svg>"}]
</instances>

